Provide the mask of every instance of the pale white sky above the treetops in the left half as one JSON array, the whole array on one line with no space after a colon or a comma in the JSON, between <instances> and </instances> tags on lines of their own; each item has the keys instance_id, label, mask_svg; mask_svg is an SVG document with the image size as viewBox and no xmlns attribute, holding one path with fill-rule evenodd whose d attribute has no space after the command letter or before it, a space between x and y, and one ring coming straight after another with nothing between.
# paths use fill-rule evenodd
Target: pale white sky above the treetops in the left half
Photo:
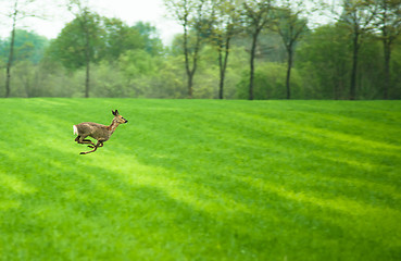
<instances>
[{"instance_id":1,"label":"pale white sky above the treetops in the left half","mask_svg":"<svg viewBox=\"0 0 401 261\"><path fill-rule=\"evenodd\" d=\"M10 2L13 1L0 1L0 9L3 9L4 4L10 5ZM33 30L49 39L57 38L65 23L72 21L74 16L65 8L57 8L53 4L47 7L49 14L47 14L46 20L25 18L18 27ZM163 0L89 0L89 7L100 15L118 17L128 25L134 25L138 21L149 22L158 28L164 45L170 45L174 35L183 30L177 22L167 17ZM4 16L1 17L1 20L3 18ZM11 25L3 20L3 23L0 23L0 36L8 37L10 30Z\"/></svg>"}]
</instances>

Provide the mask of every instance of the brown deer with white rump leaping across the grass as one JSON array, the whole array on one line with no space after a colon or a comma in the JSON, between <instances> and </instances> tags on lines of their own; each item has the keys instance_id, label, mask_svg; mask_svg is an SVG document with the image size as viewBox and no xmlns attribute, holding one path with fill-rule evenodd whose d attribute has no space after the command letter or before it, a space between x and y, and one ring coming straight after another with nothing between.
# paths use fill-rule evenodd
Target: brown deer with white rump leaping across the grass
<instances>
[{"instance_id":1,"label":"brown deer with white rump leaping across the grass","mask_svg":"<svg viewBox=\"0 0 401 261\"><path fill-rule=\"evenodd\" d=\"M80 154L87 154L95 152L99 147L103 147L103 142L108 141L110 136L114 133L115 128L122 124L127 123L128 121L120 115L118 111L112 111L114 119L110 126L102 125L99 123L85 122L74 125L74 134L78 135L75 138L75 141L78 144L89 144L89 148L92 148L90 151L80 152ZM95 145L90 139L85 139L86 137L92 137L98 140Z\"/></svg>"}]
</instances>

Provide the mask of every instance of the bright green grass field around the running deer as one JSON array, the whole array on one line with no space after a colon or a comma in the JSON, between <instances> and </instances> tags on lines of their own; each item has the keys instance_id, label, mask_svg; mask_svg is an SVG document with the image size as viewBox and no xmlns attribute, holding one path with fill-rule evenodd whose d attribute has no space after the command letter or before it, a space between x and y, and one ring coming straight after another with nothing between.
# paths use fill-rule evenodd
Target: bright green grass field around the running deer
<instances>
[{"instance_id":1,"label":"bright green grass field around the running deer","mask_svg":"<svg viewBox=\"0 0 401 261\"><path fill-rule=\"evenodd\" d=\"M73 124L129 122L103 148ZM400 101L0 100L0 260L401 260Z\"/></svg>"}]
</instances>

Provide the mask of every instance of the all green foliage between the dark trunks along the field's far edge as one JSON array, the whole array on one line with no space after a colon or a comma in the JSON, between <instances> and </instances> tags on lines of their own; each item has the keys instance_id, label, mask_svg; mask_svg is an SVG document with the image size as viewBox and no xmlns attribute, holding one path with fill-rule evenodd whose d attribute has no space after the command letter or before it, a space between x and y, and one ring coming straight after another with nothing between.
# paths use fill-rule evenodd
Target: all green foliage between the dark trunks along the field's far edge
<instances>
[{"instance_id":1,"label":"all green foliage between the dark trunks along the field's far edge","mask_svg":"<svg viewBox=\"0 0 401 261\"><path fill-rule=\"evenodd\" d=\"M185 11L183 1L167 1ZM218 2L218 12L211 8ZM197 7L200 2L188 1L190 18L187 27L187 52L189 71L196 69L192 82L192 97L202 99L218 98L220 62L218 50L224 50L224 35L234 35L229 46L229 59L225 74L224 98L248 99L249 78L247 66L252 52L252 35L245 26L246 21L239 20L245 12L243 1L222 0L205 1L202 5L202 18L197 20ZM300 3L300 4L296 4ZM273 27L261 32L254 47L256 72L254 75L255 99L285 98L285 79L288 61L286 44L297 35L305 23L305 7L301 1L281 1L276 7L280 12L271 12L274 1L258 3L249 1L248 14L255 14L264 9L263 18L273 23ZM72 1L79 4L79 1ZM383 2L384 3L384 2ZM252 5L254 4L254 5ZM381 2L380 2L381 4ZM394 2L396 4L396 2ZM398 3L397 3L398 4ZM391 17L398 12L398 5L391 8ZM74 7L75 7L74 5ZM258 8L258 7L259 8ZM297 7L296 7L297 5ZM252 8L256 9L252 9ZM171 7L173 8L173 7ZM272 10L271 10L272 8ZM86 11L85 11L86 10ZM177 35L170 47L163 47L155 27L149 23L138 22L127 25L118 18L108 18L83 9L80 15L66 24L59 37L50 42L43 37L17 30L15 38L15 55L11 72L12 97L83 97L85 67L90 69L89 88L92 97L131 97L131 98L187 98L188 71L184 53L184 37ZM352 10L351 10L352 11ZM379 10L384 15L384 8ZM231 13L230 13L231 12ZM77 13L79 13L77 11ZM86 59L85 28L83 16L87 14L90 33L89 54ZM175 13L177 15L178 13ZM366 14L366 13L364 13ZM199 14L200 15L200 14ZM344 14L346 15L346 14ZM173 15L174 16L174 15ZM279 20L274 20L274 17ZM396 15L397 16L397 15ZM387 17L387 16L386 16ZM398 16L397 16L398 17ZM178 18L178 17L175 17ZM184 18L184 17L183 17ZM209 18L211 21L209 21ZM243 18L243 17L242 17ZM249 17L250 18L250 17ZM262 17L261 17L262 18ZM343 17L347 18L347 15ZM209 23L210 22L210 23ZM250 22L250 20L248 20ZM262 21L260 21L262 22ZM387 23L397 25L397 18ZM372 26L380 28L380 21ZM198 25L197 25L198 24ZM292 26L293 25L293 26ZM198 26L198 27L197 27ZM248 24L248 27L251 24ZM390 25L389 25L390 26ZM396 26L397 27L397 26ZM396 27L391 27L396 33ZM199 32L197 30L200 29ZM214 30L211 32L210 29ZM371 27L368 29L372 29ZM233 33L235 32L235 34ZM292 34L292 33L293 34ZM199 33L199 34L198 34ZM213 33L213 34L211 34ZM323 25L302 32L302 38L295 45L293 71L291 71L291 98L293 99L348 99L352 65L352 41L349 27L344 23ZM381 32L383 33L383 32ZM400 39L391 33L391 60L388 86L388 98L401 98L401 64ZM231 36L230 35L230 36ZM197 37L199 36L199 37ZM212 40L205 39L212 37ZM217 40L220 39L220 40ZM386 65L384 65L383 40L380 32L364 33L360 39L359 65L356 70L356 98L383 99ZM199 41L199 42L198 42ZM199 45L197 45L197 42ZM218 42L218 47L216 44ZM9 39L0 39L0 67L5 69L8 61ZM287 45L287 48L289 46ZM46 51L45 57L42 55ZM193 65L193 57L197 65ZM223 55L225 53L223 52ZM186 74L187 73L187 74ZM0 83L4 83L4 74L0 74ZM386 83L387 83L386 82ZM0 95L4 87L0 85ZM187 87L186 87L187 86Z\"/></svg>"}]
</instances>

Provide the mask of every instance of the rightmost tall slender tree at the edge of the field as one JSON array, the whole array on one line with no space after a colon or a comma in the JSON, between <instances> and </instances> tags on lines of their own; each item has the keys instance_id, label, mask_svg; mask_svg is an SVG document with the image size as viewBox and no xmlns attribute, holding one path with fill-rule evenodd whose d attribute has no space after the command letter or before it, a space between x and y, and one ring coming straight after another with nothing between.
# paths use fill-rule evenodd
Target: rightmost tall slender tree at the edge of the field
<instances>
[{"instance_id":1,"label":"rightmost tall slender tree at the edge of the field","mask_svg":"<svg viewBox=\"0 0 401 261\"><path fill-rule=\"evenodd\" d=\"M375 25L380 30L380 39L383 41L383 50L385 58L385 78L383 85L383 97L389 98L389 89L391 86L390 61L391 50L394 40L401 34L401 2L399 0L378 0L377 15Z\"/></svg>"}]
</instances>

